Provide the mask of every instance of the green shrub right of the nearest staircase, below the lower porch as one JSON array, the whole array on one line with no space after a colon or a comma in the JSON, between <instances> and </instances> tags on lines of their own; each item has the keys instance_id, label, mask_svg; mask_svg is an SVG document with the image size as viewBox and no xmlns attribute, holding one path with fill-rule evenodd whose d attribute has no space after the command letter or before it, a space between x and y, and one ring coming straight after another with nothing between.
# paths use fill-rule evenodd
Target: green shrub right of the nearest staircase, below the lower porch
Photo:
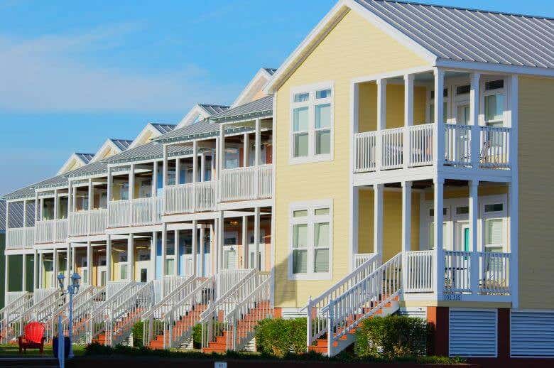
<instances>
[{"instance_id":1,"label":"green shrub right of the nearest staircase, below the lower porch","mask_svg":"<svg viewBox=\"0 0 554 368\"><path fill-rule=\"evenodd\" d=\"M428 328L425 320L388 315L364 320L356 331L354 352L359 357L419 357L425 355Z\"/></svg>"}]
</instances>

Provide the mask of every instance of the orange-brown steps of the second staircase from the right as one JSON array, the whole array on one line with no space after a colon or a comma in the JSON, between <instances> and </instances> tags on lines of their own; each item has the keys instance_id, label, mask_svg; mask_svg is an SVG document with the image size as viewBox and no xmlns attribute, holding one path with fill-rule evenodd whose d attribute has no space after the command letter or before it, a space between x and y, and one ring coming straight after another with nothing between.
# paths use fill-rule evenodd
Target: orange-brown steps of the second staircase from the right
<instances>
[{"instance_id":1,"label":"orange-brown steps of the second staircase from the right","mask_svg":"<svg viewBox=\"0 0 554 368\"><path fill-rule=\"evenodd\" d=\"M229 349L229 344L236 338L246 338L254 334L254 328L260 320L266 318L267 315L273 315L269 301L260 301L256 303L254 308L249 308L248 313L243 318L237 320L236 328L227 326L219 335L215 336L214 341L208 343L208 347L203 347L202 352L206 354L217 353L223 354ZM237 334L234 336L234 334Z\"/></svg>"}]
</instances>

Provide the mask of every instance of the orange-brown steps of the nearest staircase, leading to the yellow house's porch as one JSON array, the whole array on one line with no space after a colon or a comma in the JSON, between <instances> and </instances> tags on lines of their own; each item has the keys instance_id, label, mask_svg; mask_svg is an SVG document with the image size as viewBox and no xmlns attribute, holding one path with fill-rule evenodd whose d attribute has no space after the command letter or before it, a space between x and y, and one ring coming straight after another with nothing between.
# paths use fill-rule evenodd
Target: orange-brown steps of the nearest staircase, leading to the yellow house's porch
<instances>
[{"instance_id":1,"label":"orange-brown steps of the nearest staircase, leading to the yellow house's porch","mask_svg":"<svg viewBox=\"0 0 554 368\"><path fill-rule=\"evenodd\" d=\"M373 303L371 303L371 304L373 304ZM345 327L348 327L348 326L352 325L355 321L359 321L359 320L362 320L362 319L374 318L374 317L384 317L386 315L391 315L392 313L396 312L396 310L398 310L398 308L399 308L398 296L394 296L391 301L389 301L385 305L381 306L380 308L377 308L376 310L373 310L373 312L372 312L373 305L371 305L370 308L363 308L362 309L363 313L357 313L355 315L350 315L347 318ZM371 313L371 315L369 315L369 317L366 317L366 315L368 313ZM334 332L334 335L336 336L337 332L342 332L343 329L344 328L338 328L337 331ZM343 345L342 350L344 350L345 347L347 347L348 345L351 345L355 340L356 330L357 330L357 328L352 328L352 329L348 330L346 335L342 335L339 338L340 344L339 344L339 341L333 342L333 347L339 347L339 345ZM327 335L324 335L324 336L318 338L317 340L315 340L315 345L309 346L308 351L317 352L321 355L328 355L328 353L329 353L329 351L328 351L328 346L329 345L328 344L329 344L329 340L327 339Z\"/></svg>"}]
</instances>

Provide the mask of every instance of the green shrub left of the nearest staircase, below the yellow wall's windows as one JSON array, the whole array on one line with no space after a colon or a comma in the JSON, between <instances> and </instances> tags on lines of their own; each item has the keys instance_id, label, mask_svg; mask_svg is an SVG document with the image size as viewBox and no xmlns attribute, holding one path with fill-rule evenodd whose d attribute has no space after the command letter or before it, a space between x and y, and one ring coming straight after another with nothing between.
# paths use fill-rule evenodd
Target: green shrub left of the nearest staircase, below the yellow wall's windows
<instances>
[{"instance_id":1,"label":"green shrub left of the nearest staircase, below the yellow wall's windows","mask_svg":"<svg viewBox=\"0 0 554 368\"><path fill-rule=\"evenodd\" d=\"M283 320L273 318L261 320L256 326L256 345L266 355L284 357L288 353L301 354L306 351L306 319Z\"/></svg>"}]
</instances>

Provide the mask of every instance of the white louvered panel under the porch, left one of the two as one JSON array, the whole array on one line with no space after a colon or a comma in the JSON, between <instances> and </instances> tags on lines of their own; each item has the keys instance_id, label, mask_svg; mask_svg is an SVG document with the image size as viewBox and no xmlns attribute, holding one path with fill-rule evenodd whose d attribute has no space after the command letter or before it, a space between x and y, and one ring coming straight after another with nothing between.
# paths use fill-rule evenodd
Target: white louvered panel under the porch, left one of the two
<instances>
[{"instance_id":1,"label":"white louvered panel under the porch, left one of the two","mask_svg":"<svg viewBox=\"0 0 554 368\"><path fill-rule=\"evenodd\" d=\"M496 309L450 308L451 357L496 357Z\"/></svg>"}]
</instances>

